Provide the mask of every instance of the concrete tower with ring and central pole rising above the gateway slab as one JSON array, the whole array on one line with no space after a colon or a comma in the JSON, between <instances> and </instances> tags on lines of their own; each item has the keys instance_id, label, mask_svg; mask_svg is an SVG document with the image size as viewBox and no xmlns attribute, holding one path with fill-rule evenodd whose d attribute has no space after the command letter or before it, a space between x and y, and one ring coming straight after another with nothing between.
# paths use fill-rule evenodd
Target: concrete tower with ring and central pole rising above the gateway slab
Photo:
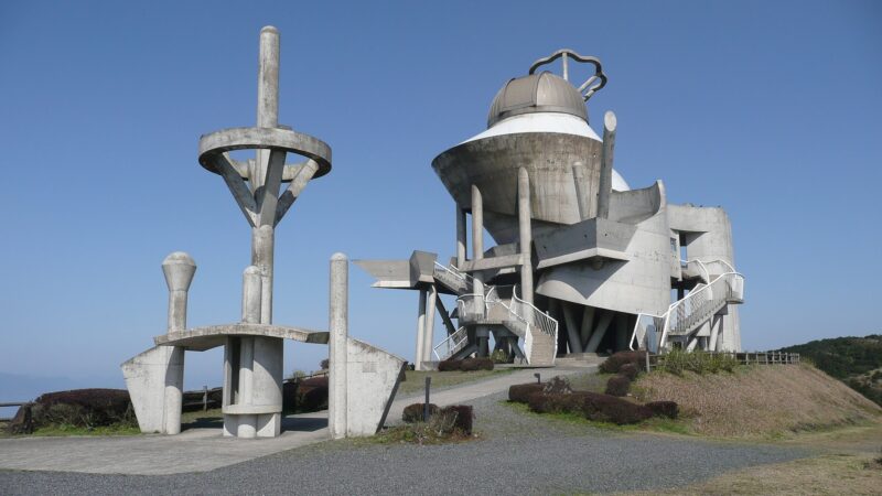
<instances>
[{"instance_id":1,"label":"concrete tower with ring and central pole rising above the gateway slab","mask_svg":"<svg viewBox=\"0 0 882 496\"><path fill-rule=\"evenodd\" d=\"M255 159L237 161L234 150L256 150ZM286 164L295 153L306 160ZM257 126L222 129L200 138L200 163L219 174L252 228L251 265L260 269L260 323L272 323L273 229L306 183L331 171L331 148L323 141L279 125L279 31L260 31ZM283 183L288 183L279 195Z\"/></svg>"}]
</instances>

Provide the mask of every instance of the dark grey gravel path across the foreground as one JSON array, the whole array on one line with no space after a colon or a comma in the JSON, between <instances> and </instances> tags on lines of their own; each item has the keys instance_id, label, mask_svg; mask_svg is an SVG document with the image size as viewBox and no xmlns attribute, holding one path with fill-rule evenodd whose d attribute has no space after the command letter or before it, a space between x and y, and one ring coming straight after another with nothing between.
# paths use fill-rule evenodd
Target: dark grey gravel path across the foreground
<instances>
[{"instance_id":1,"label":"dark grey gravel path across the foreground","mask_svg":"<svg viewBox=\"0 0 882 496\"><path fill-rule=\"evenodd\" d=\"M217 471L164 476L0 471L0 494L569 494L676 487L808 456L781 445L623 433L473 401L480 441L378 445L343 440Z\"/></svg>"}]
</instances>

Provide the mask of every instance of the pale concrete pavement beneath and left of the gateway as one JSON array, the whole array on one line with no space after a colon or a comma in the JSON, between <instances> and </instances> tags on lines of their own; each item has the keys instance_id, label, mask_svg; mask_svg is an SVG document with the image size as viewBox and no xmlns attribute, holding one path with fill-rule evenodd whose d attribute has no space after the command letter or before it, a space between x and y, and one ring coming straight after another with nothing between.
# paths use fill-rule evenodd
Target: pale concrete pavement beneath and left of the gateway
<instances>
[{"instance_id":1,"label":"pale concrete pavement beneath and left of the gateway","mask_svg":"<svg viewBox=\"0 0 882 496\"><path fill-rule=\"evenodd\" d=\"M13 438L0 440L0 468L163 475L206 472L330 439L327 412L282 420L278 438L224 438L219 425L176 435Z\"/></svg>"}]
</instances>

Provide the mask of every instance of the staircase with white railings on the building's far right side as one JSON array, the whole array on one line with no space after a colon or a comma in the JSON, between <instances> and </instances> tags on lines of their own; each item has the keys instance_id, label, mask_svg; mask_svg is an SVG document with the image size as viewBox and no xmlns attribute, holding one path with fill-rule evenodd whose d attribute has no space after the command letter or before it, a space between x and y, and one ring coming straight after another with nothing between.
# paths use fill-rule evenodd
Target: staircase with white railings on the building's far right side
<instances>
[{"instance_id":1,"label":"staircase with white railings on the building's far right side","mask_svg":"<svg viewBox=\"0 0 882 496\"><path fill-rule=\"evenodd\" d=\"M673 303L662 315L638 314L631 336L631 349L634 349L635 345L639 347L645 342L650 326L658 332L659 322L662 322L662 336L658 338L657 346L654 346L656 347L655 353L657 353L659 348L667 346L668 335L687 335L710 320L727 303L740 302L744 299L744 276L731 270L732 266L729 262L724 260L709 262L689 260L686 263L697 263L707 279L710 279L708 270L710 265L719 265L727 271L717 276L708 284L691 291L682 300ZM649 343L649 345L652 344Z\"/></svg>"}]
</instances>

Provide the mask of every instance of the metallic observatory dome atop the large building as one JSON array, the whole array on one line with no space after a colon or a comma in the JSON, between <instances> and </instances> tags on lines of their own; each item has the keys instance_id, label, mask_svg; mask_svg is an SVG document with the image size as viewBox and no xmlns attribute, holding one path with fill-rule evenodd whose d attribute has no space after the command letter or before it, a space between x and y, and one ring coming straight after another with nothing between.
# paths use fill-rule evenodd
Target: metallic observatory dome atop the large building
<instances>
[{"instance_id":1,"label":"metallic observatory dome atop the large building","mask_svg":"<svg viewBox=\"0 0 882 496\"><path fill-rule=\"evenodd\" d=\"M562 112L588 122L585 99L567 79L542 72L510 79L493 99L487 128L512 116L533 112Z\"/></svg>"}]
</instances>

